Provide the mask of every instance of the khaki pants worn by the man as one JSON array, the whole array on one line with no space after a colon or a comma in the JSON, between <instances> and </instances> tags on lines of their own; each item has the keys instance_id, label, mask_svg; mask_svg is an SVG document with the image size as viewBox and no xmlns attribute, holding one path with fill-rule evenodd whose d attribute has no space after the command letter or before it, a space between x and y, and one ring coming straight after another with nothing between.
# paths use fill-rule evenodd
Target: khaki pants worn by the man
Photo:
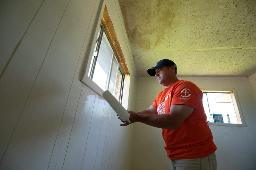
<instances>
[{"instance_id":1,"label":"khaki pants worn by the man","mask_svg":"<svg viewBox=\"0 0 256 170\"><path fill-rule=\"evenodd\" d=\"M171 170L216 170L215 152L196 159L171 159Z\"/></svg>"}]
</instances>

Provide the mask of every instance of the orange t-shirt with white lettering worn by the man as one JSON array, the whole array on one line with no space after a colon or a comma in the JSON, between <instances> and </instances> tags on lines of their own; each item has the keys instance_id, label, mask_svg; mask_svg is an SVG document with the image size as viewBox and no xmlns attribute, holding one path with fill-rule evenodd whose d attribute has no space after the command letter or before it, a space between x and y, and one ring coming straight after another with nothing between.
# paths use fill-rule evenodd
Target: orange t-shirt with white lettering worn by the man
<instances>
[{"instance_id":1,"label":"orange t-shirt with white lettering worn by the man","mask_svg":"<svg viewBox=\"0 0 256 170\"><path fill-rule=\"evenodd\" d=\"M176 130L163 129L165 150L170 159L202 158L217 148L202 103L203 93L192 82L178 80L172 86L160 92L152 106L158 114L169 114L171 105L188 105L194 111Z\"/></svg>"}]
</instances>

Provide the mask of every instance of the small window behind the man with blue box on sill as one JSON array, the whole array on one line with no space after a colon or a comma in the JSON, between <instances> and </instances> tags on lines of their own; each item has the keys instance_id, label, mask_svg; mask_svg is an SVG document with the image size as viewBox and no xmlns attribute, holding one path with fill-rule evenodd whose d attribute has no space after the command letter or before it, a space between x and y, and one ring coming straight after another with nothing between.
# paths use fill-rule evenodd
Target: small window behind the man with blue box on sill
<instances>
[{"instance_id":1,"label":"small window behind the man with blue box on sill","mask_svg":"<svg viewBox=\"0 0 256 170\"><path fill-rule=\"evenodd\" d=\"M234 91L203 91L208 122L244 124Z\"/></svg>"}]
</instances>

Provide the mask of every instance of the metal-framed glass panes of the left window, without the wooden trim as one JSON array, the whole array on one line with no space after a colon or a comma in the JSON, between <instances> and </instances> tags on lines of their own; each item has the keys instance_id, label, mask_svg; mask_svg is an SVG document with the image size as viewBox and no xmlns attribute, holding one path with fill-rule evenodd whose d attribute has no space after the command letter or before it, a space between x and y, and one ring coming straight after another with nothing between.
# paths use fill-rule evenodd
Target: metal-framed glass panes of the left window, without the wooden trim
<instances>
[{"instance_id":1,"label":"metal-framed glass panes of the left window, without the wooden trim","mask_svg":"<svg viewBox=\"0 0 256 170\"><path fill-rule=\"evenodd\" d=\"M89 77L102 90L109 90L121 102L124 73L102 25L98 31L89 73Z\"/></svg>"}]
</instances>

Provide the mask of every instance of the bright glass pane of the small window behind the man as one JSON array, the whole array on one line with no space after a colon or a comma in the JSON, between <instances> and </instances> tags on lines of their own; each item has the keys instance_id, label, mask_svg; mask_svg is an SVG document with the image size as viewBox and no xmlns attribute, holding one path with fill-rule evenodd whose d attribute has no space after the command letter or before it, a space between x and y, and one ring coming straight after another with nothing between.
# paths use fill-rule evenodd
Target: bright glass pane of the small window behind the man
<instances>
[{"instance_id":1,"label":"bright glass pane of the small window behind the man","mask_svg":"<svg viewBox=\"0 0 256 170\"><path fill-rule=\"evenodd\" d=\"M216 116L217 118L220 118L220 122L238 123L230 93L207 93L207 99L210 114L217 114ZM207 105L204 104L204 107L206 113ZM208 115L208 117L210 122L213 122L213 115Z\"/></svg>"}]
</instances>

